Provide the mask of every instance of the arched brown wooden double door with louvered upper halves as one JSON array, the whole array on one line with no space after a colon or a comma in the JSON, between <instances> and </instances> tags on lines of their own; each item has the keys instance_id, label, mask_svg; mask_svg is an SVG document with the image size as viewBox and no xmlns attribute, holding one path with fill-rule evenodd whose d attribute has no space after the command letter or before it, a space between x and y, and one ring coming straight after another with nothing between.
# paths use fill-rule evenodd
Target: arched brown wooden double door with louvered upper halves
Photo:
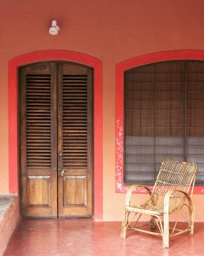
<instances>
[{"instance_id":1,"label":"arched brown wooden double door with louvered upper halves","mask_svg":"<svg viewBox=\"0 0 204 256\"><path fill-rule=\"evenodd\" d=\"M93 69L20 67L20 205L24 217L92 215Z\"/></svg>"}]
</instances>

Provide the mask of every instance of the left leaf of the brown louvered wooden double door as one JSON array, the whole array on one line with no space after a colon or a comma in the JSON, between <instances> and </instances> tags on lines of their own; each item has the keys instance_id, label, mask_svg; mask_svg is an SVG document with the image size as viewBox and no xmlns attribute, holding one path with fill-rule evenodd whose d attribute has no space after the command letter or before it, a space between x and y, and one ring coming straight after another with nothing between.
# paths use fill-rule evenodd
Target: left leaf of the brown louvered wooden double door
<instances>
[{"instance_id":1,"label":"left leaf of the brown louvered wooden double door","mask_svg":"<svg viewBox=\"0 0 204 256\"><path fill-rule=\"evenodd\" d=\"M57 215L54 69L54 63L20 69L21 208L26 217Z\"/></svg>"}]
</instances>

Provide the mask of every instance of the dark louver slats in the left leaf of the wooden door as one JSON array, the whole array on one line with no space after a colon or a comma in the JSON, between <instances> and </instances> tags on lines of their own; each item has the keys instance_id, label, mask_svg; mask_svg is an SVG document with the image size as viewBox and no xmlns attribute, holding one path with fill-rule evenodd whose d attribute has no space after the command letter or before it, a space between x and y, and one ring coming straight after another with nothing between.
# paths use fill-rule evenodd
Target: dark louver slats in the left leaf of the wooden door
<instances>
[{"instance_id":1,"label":"dark louver slats in the left leaf of the wooden door","mask_svg":"<svg viewBox=\"0 0 204 256\"><path fill-rule=\"evenodd\" d=\"M26 166L51 167L51 76L26 75Z\"/></svg>"}]
</instances>

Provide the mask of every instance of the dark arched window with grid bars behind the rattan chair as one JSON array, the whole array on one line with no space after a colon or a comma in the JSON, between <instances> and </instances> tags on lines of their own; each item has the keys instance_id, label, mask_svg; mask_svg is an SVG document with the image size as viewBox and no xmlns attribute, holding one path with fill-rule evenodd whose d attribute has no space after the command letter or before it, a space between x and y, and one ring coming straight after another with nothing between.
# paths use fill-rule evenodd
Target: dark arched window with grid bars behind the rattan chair
<instances>
[{"instance_id":1,"label":"dark arched window with grid bars behind the rattan chair","mask_svg":"<svg viewBox=\"0 0 204 256\"><path fill-rule=\"evenodd\" d=\"M204 61L163 61L125 72L125 183L152 184L164 159L198 164L204 184Z\"/></svg>"}]
</instances>

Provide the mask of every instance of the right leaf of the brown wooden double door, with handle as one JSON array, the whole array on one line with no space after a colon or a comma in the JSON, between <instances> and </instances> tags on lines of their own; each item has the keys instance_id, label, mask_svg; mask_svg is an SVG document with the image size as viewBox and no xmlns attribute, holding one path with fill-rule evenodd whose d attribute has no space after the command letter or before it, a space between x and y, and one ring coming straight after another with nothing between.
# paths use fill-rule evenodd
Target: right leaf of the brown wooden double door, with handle
<instances>
[{"instance_id":1,"label":"right leaf of the brown wooden double door, with handle","mask_svg":"<svg viewBox=\"0 0 204 256\"><path fill-rule=\"evenodd\" d=\"M92 214L92 69L59 67L59 216Z\"/></svg>"}]
</instances>

